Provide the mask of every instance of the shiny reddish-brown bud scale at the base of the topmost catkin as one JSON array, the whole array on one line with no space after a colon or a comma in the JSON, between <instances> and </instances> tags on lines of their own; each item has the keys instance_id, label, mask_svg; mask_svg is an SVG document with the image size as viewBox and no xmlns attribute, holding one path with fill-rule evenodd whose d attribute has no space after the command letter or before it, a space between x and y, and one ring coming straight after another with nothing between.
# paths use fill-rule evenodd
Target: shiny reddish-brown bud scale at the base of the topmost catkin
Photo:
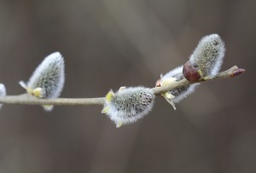
<instances>
[{"instance_id":1,"label":"shiny reddish-brown bud scale at the base of the topmost catkin","mask_svg":"<svg viewBox=\"0 0 256 173\"><path fill-rule=\"evenodd\" d=\"M190 82L197 82L201 79L200 70L193 66L190 61L183 65L183 76Z\"/></svg>"}]
</instances>

